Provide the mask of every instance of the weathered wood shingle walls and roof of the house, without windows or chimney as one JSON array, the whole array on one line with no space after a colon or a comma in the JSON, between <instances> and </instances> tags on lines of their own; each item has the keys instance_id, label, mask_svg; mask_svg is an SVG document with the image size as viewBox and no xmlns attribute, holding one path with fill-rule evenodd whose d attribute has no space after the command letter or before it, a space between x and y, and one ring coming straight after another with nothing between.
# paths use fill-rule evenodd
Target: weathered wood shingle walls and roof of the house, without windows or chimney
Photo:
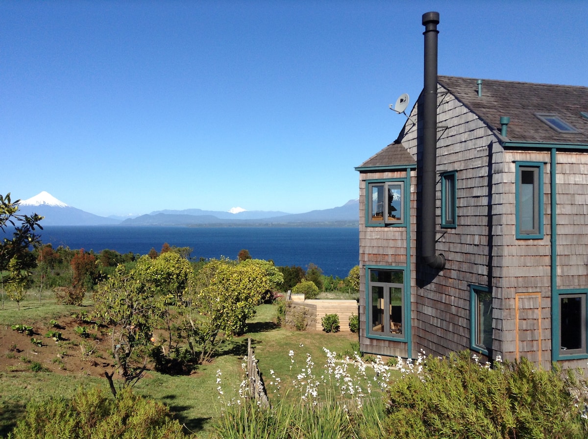
<instances>
[{"instance_id":1,"label":"weathered wood shingle walls and roof of the house, without windows or chimney","mask_svg":"<svg viewBox=\"0 0 588 439\"><path fill-rule=\"evenodd\" d=\"M552 303L558 303L558 294L572 293L586 294L588 303L588 120L577 105L588 102L588 88L484 80L482 96L478 96L475 79L439 76L435 252L446 260L441 272L423 264L420 254L420 102L419 98L399 139L356 168L360 172L360 264L364 268L360 346L369 353L409 357L416 357L420 350L446 355L470 348L474 342L470 339L475 306L472 291L487 290L492 298L490 354L506 360L524 356L550 367L559 355L559 340L552 340L552 334L558 332L552 325L561 324ZM536 116L550 112L577 132L557 132ZM501 132L502 116L510 118L506 136ZM542 230L519 237L516 186L528 187L529 183L518 181L518 166L540 170L543 181L539 191ZM456 227L441 226L444 172L456 176ZM410 196L410 210L405 212L409 217L406 227L366 226L366 181L401 179L407 173L410 187L405 196ZM556 222L554 227L552 222ZM366 266L406 270L410 279L410 336L406 340L366 332ZM566 366L586 367L588 351L580 357L560 360Z\"/></svg>"}]
</instances>

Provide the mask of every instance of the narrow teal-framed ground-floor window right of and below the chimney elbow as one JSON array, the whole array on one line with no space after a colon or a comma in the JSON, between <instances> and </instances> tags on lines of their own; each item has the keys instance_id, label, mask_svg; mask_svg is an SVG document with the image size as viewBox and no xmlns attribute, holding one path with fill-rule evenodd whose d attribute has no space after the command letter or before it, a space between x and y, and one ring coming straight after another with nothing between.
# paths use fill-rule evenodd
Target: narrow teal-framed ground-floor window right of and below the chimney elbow
<instances>
[{"instance_id":1,"label":"narrow teal-framed ground-floor window right of and below the chimney elbow","mask_svg":"<svg viewBox=\"0 0 588 439\"><path fill-rule=\"evenodd\" d=\"M487 287L470 286L470 339L473 350L492 350L492 293Z\"/></svg>"}]
</instances>

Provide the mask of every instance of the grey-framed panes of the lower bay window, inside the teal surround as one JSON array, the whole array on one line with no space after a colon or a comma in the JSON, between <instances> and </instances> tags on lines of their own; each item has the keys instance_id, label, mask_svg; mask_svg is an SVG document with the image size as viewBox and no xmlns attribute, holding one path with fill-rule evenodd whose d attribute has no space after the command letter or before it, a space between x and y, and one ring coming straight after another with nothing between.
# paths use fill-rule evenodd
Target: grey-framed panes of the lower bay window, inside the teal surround
<instances>
[{"instance_id":1,"label":"grey-framed panes of the lower bay window, inside the teal surround","mask_svg":"<svg viewBox=\"0 0 588 439\"><path fill-rule=\"evenodd\" d=\"M369 333L405 336L403 270L368 269Z\"/></svg>"}]
</instances>

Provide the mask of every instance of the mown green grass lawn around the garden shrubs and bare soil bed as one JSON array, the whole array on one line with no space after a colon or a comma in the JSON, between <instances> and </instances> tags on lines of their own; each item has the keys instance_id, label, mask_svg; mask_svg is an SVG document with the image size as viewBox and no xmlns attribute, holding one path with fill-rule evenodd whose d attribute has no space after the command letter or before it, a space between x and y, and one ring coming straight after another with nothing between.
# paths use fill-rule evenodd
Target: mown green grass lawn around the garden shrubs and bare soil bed
<instances>
[{"instance_id":1,"label":"mown green grass lawn around the garden shrubs and bare soil bed","mask_svg":"<svg viewBox=\"0 0 588 439\"><path fill-rule=\"evenodd\" d=\"M91 310L91 307L88 306L88 309ZM16 321L26 324L49 321L71 311L69 307L59 306L48 300L41 304L38 300L21 303L20 311L16 309L16 304L7 302L5 309L0 310L0 324L5 326ZM306 367L307 354L312 357L315 373L320 376L320 370L327 358L323 347L343 353L352 350L352 343L358 341L357 334L348 331L324 333L277 327L273 323L275 313L273 305L259 306L257 315L248 323L248 334L227 341L211 363L199 366L189 376L169 376L149 371L136 384L136 393L162 401L190 431L199 438L208 438L212 433L211 420L218 415L221 407L217 371L222 372L222 388L225 391L223 398L230 400L236 396L243 378L241 364L249 338L266 383L271 379L270 370L273 370L285 387L292 386L296 374ZM290 350L294 351L295 363L290 360ZM7 355L7 352L0 353L0 356ZM106 378L84 376L83 373L35 373L28 370L0 372L0 437L5 437L14 427L16 419L23 414L27 401L52 395L68 397L80 386L108 388L108 382ZM270 391L268 389L268 393ZM271 399L272 394L269 396Z\"/></svg>"}]
</instances>

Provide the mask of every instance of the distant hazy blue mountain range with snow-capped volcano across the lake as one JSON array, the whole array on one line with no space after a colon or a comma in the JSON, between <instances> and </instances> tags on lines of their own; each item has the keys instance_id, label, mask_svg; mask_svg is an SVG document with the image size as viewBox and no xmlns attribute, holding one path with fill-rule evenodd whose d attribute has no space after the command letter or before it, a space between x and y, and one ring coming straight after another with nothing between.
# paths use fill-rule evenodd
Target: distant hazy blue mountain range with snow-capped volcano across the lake
<instances>
[{"instance_id":1,"label":"distant hazy blue mountain range with snow-capped volcano across the lake","mask_svg":"<svg viewBox=\"0 0 588 439\"><path fill-rule=\"evenodd\" d=\"M359 200L332 209L312 210L306 213L286 213L262 210L245 210L233 207L230 212L185 209L158 210L148 215L122 219L84 212L59 201L48 192L21 201L19 213L38 213L45 218L42 226L355 226L359 219Z\"/></svg>"}]
</instances>

